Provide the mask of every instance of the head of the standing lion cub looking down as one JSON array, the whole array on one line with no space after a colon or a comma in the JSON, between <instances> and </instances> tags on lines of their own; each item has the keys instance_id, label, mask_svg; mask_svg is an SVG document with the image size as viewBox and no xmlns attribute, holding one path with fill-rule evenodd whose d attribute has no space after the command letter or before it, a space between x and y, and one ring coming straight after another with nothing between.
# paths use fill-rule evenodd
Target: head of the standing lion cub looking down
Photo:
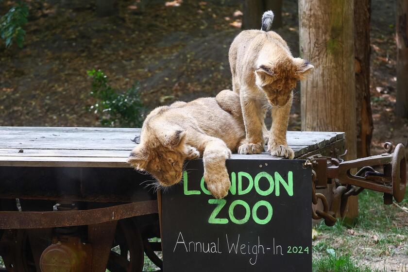
<instances>
[{"instance_id":1,"label":"head of the standing lion cub looking down","mask_svg":"<svg viewBox=\"0 0 408 272\"><path fill-rule=\"evenodd\" d=\"M296 82L304 79L313 68L313 65L301 58L275 58L272 62L257 66L255 83L265 92L272 105L282 107L289 101Z\"/></svg>"}]
</instances>

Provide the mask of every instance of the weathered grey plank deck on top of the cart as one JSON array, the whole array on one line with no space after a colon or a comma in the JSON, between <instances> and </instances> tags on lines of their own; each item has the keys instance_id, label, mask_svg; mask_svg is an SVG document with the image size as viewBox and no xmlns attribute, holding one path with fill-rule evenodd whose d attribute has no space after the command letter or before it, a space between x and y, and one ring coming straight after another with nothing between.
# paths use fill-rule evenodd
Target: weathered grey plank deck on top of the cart
<instances>
[{"instance_id":1,"label":"weathered grey plank deck on top of the cart","mask_svg":"<svg viewBox=\"0 0 408 272\"><path fill-rule=\"evenodd\" d=\"M0 166L129 167L135 128L0 127ZM344 139L337 132L288 132L295 157ZM22 151L22 152L21 152ZM269 153L231 159L281 159Z\"/></svg>"}]
</instances>

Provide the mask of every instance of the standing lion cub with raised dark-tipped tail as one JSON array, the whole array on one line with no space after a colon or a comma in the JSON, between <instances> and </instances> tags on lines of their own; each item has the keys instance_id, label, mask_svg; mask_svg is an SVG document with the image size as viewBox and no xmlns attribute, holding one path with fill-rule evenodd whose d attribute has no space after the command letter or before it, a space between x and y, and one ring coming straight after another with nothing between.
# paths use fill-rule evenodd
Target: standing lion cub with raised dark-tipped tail
<instances>
[{"instance_id":1,"label":"standing lion cub with raised dark-tipped tail","mask_svg":"<svg viewBox=\"0 0 408 272\"><path fill-rule=\"evenodd\" d=\"M314 67L292 56L282 37L270 31L272 20L272 11L265 12L261 30L242 31L229 49L233 90L240 97L246 131L238 153L263 151L268 138L264 118L272 106L268 152L292 159L294 153L286 142L292 89Z\"/></svg>"}]
</instances>

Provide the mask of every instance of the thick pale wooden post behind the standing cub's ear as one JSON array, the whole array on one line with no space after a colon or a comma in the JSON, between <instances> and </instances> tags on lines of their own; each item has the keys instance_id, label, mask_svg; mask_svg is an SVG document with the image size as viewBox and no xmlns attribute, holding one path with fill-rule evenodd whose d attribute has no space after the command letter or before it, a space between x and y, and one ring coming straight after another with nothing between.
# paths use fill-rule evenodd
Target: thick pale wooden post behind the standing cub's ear
<instances>
[{"instance_id":1,"label":"thick pale wooden post behind the standing cub's ear","mask_svg":"<svg viewBox=\"0 0 408 272\"><path fill-rule=\"evenodd\" d=\"M315 66L301 85L302 130L344 131L346 159L354 159L354 1L299 0L299 35L302 58ZM357 198L351 198L346 217L357 215Z\"/></svg>"}]
</instances>

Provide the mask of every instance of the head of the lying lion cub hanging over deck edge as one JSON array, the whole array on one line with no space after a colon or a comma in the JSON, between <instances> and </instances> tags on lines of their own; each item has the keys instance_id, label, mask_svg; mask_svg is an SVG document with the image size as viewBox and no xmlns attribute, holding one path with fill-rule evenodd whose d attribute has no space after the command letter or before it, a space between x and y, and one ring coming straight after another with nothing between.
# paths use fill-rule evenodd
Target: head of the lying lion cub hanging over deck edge
<instances>
[{"instance_id":1,"label":"head of the lying lion cub hanging over deck edge","mask_svg":"<svg viewBox=\"0 0 408 272\"><path fill-rule=\"evenodd\" d=\"M148 134L149 135L149 134ZM136 170L151 173L160 185L178 183L187 158L185 132L176 130L163 136L150 136L130 153L128 162Z\"/></svg>"}]
</instances>

